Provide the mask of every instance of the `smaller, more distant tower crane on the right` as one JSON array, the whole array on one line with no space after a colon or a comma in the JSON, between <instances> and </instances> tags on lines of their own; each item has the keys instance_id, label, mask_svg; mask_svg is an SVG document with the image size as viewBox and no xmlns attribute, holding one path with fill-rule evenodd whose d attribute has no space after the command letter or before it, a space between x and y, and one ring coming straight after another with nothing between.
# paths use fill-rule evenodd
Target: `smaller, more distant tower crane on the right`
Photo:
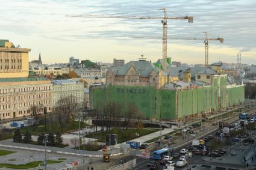
<instances>
[{"instance_id":1,"label":"smaller, more distant tower crane on the right","mask_svg":"<svg viewBox=\"0 0 256 170\"><path fill-rule=\"evenodd\" d=\"M220 43L223 43L224 41L224 38L209 38L208 37L208 32L204 31L202 32L205 34L205 38L171 38L172 40L204 40L204 44L205 44L205 58L204 58L204 66L205 67L208 67L208 56L209 56L209 44L208 44L208 41L211 41L211 40L216 40L216 41L219 41ZM155 39L157 37L132 37L132 38L152 38L152 39ZM160 38L157 38L157 39L160 39ZM164 40L163 40L164 41Z\"/></svg>"}]
</instances>

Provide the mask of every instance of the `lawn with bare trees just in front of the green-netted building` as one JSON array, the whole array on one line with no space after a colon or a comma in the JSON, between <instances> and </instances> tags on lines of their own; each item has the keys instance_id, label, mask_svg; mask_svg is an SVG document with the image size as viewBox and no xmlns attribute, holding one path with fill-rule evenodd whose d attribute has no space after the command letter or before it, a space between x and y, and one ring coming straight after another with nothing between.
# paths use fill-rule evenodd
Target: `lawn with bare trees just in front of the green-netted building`
<instances>
[{"instance_id":1,"label":"lawn with bare trees just in front of the green-netted building","mask_svg":"<svg viewBox=\"0 0 256 170\"><path fill-rule=\"evenodd\" d=\"M113 128L110 130L110 132L98 132L96 134L90 133L87 135L87 138L99 138L99 142L105 142L106 141L106 135L107 134L117 134L117 142L122 143L125 141L130 141L131 139L134 138L139 138L139 136L136 136L136 133L139 133L140 136L148 135L149 133L153 133L157 131L158 129L128 129L128 130L123 130L123 129L116 129Z\"/></svg>"}]
</instances>

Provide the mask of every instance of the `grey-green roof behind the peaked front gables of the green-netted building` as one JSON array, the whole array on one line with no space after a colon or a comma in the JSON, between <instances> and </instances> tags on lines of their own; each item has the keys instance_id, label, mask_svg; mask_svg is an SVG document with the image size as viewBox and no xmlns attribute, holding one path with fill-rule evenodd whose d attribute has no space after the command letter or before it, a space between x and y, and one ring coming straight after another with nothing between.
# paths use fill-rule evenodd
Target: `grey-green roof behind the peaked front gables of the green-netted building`
<instances>
[{"instance_id":1,"label":"grey-green roof behind the peaked front gables of the green-netted building","mask_svg":"<svg viewBox=\"0 0 256 170\"><path fill-rule=\"evenodd\" d=\"M163 75L167 76L167 74L163 70L160 70L160 68L156 67L149 61L130 61L117 69L117 75L124 76L132 65L134 65L134 67L137 69L140 76L142 77L149 77L152 71L156 71L157 73L161 71Z\"/></svg>"}]
</instances>

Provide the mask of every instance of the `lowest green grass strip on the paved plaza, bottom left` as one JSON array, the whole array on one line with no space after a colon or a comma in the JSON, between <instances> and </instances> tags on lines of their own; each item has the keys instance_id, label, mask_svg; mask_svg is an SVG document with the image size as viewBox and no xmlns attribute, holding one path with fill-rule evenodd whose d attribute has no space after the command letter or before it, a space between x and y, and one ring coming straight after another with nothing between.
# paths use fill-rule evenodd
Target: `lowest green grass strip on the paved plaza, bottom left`
<instances>
[{"instance_id":1,"label":"lowest green grass strip on the paved plaza, bottom left","mask_svg":"<svg viewBox=\"0 0 256 170\"><path fill-rule=\"evenodd\" d=\"M47 160L46 163L61 163L61 160ZM26 164L13 165L10 163L0 163L0 168L12 168L12 169L28 169L28 168L36 168L39 164L42 164L42 161L34 161L28 162Z\"/></svg>"}]
</instances>

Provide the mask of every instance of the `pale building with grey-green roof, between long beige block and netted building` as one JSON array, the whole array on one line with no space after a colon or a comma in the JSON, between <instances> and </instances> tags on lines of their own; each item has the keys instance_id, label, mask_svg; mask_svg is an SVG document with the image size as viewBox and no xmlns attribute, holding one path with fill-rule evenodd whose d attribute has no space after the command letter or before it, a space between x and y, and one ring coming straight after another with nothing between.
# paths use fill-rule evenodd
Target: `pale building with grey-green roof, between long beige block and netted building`
<instances>
[{"instance_id":1,"label":"pale building with grey-green roof, between long beige block and netted building","mask_svg":"<svg viewBox=\"0 0 256 170\"><path fill-rule=\"evenodd\" d=\"M52 106L60 104L61 99L69 99L70 105L81 109L84 103L84 83L76 79L52 80Z\"/></svg>"}]
</instances>

